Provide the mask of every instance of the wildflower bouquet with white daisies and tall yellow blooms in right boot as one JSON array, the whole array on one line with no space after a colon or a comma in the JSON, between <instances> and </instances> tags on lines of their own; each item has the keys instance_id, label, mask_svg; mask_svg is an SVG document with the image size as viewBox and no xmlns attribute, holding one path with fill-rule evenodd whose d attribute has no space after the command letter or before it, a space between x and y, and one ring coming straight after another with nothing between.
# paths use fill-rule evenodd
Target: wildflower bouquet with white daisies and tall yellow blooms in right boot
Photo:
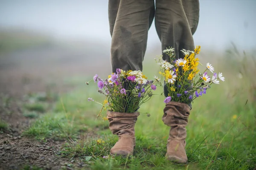
<instances>
[{"instance_id":1,"label":"wildflower bouquet with white daisies and tall yellow blooms in right boot","mask_svg":"<svg viewBox=\"0 0 256 170\"><path fill-rule=\"evenodd\" d=\"M206 94L207 88L212 84L219 84L219 79L224 81L222 73L213 73L214 68L207 63L203 73L199 73L198 65L201 64L196 57L199 54L200 46L194 51L181 50L183 59L175 58L174 48L167 48L163 52L170 57L170 63L162 60L163 56L157 56L156 62L160 65L159 72L163 77L168 95L165 103L170 101L181 102L189 105L195 98ZM173 64L173 65L172 65ZM209 76L210 71L213 75Z\"/></svg>"}]
</instances>

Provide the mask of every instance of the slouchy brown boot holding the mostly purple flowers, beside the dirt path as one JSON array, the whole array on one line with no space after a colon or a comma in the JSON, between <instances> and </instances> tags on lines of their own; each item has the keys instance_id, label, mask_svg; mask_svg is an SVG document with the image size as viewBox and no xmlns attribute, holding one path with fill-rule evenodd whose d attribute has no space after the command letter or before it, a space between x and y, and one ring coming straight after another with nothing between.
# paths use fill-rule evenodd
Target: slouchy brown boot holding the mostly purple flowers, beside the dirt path
<instances>
[{"instance_id":1,"label":"slouchy brown boot holding the mostly purple flowers, beside the dirt path","mask_svg":"<svg viewBox=\"0 0 256 170\"><path fill-rule=\"evenodd\" d=\"M118 135L118 142L111 148L111 155L131 156L135 147L134 126L139 112L119 113L107 111L109 128L114 135Z\"/></svg>"}]
</instances>

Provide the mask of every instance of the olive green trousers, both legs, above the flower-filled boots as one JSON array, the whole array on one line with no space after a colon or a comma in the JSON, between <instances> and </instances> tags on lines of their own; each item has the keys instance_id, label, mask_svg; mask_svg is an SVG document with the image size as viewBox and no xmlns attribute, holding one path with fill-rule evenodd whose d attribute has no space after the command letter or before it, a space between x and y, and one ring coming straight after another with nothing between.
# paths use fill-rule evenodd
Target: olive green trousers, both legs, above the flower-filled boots
<instances>
[{"instance_id":1,"label":"olive green trousers, both legs, above the flower-filled boots","mask_svg":"<svg viewBox=\"0 0 256 170\"><path fill-rule=\"evenodd\" d=\"M109 0L108 17L111 41L111 66L123 70L143 70L148 30L153 20L162 51L195 48L192 35L199 21L199 0ZM169 57L163 54L163 59Z\"/></svg>"}]
</instances>

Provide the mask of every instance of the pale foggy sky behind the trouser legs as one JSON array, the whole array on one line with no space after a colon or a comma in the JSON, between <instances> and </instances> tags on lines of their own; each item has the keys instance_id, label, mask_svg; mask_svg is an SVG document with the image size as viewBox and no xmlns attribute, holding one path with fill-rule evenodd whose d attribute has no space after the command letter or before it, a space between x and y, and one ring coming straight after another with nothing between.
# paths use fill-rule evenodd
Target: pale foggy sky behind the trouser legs
<instances>
[{"instance_id":1,"label":"pale foggy sky behind the trouser legs","mask_svg":"<svg viewBox=\"0 0 256 170\"><path fill-rule=\"evenodd\" d=\"M256 47L256 0L201 0L195 45ZM56 38L110 43L108 0L0 0L0 27L46 31ZM160 43L154 23L148 47Z\"/></svg>"}]
</instances>

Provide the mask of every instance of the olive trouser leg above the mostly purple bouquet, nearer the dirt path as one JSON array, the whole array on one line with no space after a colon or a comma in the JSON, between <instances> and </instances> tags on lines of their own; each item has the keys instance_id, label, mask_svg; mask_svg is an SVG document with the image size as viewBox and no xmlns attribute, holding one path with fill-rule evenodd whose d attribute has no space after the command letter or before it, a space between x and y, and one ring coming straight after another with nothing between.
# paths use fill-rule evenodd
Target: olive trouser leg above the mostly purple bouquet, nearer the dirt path
<instances>
[{"instance_id":1,"label":"olive trouser leg above the mostly purple bouquet, nearer the dirt path","mask_svg":"<svg viewBox=\"0 0 256 170\"><path fill-rule=\"evenodd\" d=\"M154 0L109 0L108 14L112 71L142 71Z\"/></svg>"}]
</instances>

